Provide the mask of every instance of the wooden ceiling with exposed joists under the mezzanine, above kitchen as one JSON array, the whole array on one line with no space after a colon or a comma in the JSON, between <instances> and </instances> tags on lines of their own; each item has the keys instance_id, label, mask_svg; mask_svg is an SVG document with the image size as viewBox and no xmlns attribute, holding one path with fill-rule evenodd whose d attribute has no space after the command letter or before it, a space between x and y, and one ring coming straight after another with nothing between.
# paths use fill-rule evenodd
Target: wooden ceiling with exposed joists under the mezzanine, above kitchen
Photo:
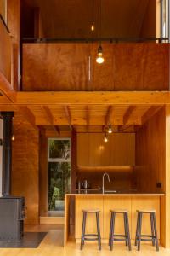
<instances>
[{"instance_id":1,"label":"wooden ceiling with exposed joists under the mezzanine, above kitchen","mask_svg":"<svg viewBox=\"0 0 170 256\"><path fill-rule=\"evenodd\" d=\"M51 126L60 133L63 127L64 130L74 127L77 131L105 131L105 127L110 124L110 117L116 131L129 131L128 126L144 125L162 105L6 105L4 108L27 119L33 128ZM4 108L0 106L1 111Z\"/></svg>"}]
</instances>

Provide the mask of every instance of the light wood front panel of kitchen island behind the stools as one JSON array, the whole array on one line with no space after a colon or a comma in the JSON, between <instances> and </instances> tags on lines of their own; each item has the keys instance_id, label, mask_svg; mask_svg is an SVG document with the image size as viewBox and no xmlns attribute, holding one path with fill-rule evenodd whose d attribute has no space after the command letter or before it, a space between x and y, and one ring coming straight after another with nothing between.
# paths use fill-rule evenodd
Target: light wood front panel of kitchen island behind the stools
<instances>
[{"instance_id":1,"label":"light wood front panel of kitchen island behind the stools","mask_svg":"<svg viewBox=\"0 0 170 256\"><path fill-rule=\"evenodd\" d=\"M71 197L74 195L66 195ZM163 196L162 196L163 197ZM128 211L129 228L131 238L135 238L137 212L136 210L155 209L157 232L160 237L160 196L159 195L76 195L76 239L81 238L82 233L82 209L99 209L100 229L103 241L108 239L111 224L111 209L125 209ZM68 212L65 212L65 216ZM90 216L91 215L91 216ZM148 215L148 214L147 214ZM96 221L93 214L89 214L86 232L96 232ZM66 227L65 227L66 228ZM68 229L68 227L67 227ZM142 232L151 233L150 215L143 216ZM116 234L124 234L124 222L120 214L116 215ZM108 241L108 240L106 240Z\"/></svg>"}]
</instances>

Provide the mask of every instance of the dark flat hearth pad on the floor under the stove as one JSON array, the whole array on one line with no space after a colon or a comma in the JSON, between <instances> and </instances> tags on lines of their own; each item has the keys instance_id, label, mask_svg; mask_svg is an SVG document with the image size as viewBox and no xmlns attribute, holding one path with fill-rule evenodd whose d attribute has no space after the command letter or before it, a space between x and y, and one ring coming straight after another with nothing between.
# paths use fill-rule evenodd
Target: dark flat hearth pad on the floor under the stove
<instances>
[{"instance_id":1,"label":"dark flat hearth pad on the floor under the stove","mask_svg":"<svg viewBox=\"0 0 170 256\"><path fill-rule=\"evenodd\" d=\"M26 232L20 241L0 241L0 248L37 248L47 232Z\"/></svg>"}]
</instances>

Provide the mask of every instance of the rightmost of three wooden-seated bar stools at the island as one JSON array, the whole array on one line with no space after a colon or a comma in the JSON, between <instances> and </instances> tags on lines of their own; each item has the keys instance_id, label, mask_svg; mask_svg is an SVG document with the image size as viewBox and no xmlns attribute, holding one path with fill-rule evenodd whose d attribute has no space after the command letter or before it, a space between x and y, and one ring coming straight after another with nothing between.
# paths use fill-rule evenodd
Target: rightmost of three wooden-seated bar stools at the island
<instances>
[{"instance_id":1,"label":"rightmost of three wooden-seated bar stools at the island","mask_svg":"<svg viewBox=\"0 0 170 256\"><path fill-rule=\"evenodd\" d=\"M157 239L157 230L156 230L156 210L146 210L139 211L137 217L137 226L136 226L136 237L135 237L135 246L138 246L138 251L140 250L140 241L152 241L152 245L156 245L156 251L159 251L158 239ZM151 236L141 234L142 230L142 217L143 214L150 214L150 225L151 225ZM142 238L146 237L146 238Z\"/></svg>"}]
</instances>

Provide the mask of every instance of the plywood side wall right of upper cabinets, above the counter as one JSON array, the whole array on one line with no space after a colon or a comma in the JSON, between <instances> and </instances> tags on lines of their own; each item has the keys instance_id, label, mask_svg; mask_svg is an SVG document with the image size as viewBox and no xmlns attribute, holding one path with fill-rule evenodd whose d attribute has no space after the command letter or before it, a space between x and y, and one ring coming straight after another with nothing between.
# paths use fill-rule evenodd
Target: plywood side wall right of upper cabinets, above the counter
<instances>
[{"instance_id":1,"label":"plywood side wall right of upper cabinets, above the counter","mask_svg":"<svg viewBox=\"0 0 170 256\"><path fill-rule=\"evenodd\" d=\"M165 191L165 108L136 133L136 175L139 191ZM161 188L156 184L161 183Z\"/></svg>"}]
</instances>

